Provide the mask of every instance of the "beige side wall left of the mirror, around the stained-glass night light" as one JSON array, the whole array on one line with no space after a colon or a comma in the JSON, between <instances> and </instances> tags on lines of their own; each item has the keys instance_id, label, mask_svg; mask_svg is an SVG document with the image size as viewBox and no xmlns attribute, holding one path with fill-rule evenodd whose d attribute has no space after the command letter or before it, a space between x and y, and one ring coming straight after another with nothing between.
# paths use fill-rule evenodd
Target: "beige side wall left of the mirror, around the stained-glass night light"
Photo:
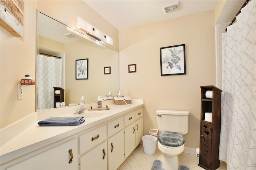
<instances>
[{"instance_id":1,"label":"beige side wall left of the mirror, around the stained-glass night light","mask_svg":"<svg viewBox=\"0 0 256 170\"><path fill-rule=\"evenodd\" d=\"M24 37L14 37L2 26L1 34L1 128L35 112L35 86L23 90L17 100L17 85L24 75L36 77L36 7L37 1L24 3Z\"/></svg>"}]
</instances>

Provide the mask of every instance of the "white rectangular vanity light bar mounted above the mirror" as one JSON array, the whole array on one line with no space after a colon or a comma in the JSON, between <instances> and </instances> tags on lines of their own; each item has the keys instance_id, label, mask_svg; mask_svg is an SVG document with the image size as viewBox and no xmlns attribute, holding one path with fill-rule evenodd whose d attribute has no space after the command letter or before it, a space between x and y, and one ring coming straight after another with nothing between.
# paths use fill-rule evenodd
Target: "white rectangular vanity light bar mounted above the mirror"
<instances>
[{"instance_id":1,"label":"white rectangular vanity light bar mounted above the mirror","mask_svg":"<svg viewBox=\"0 0 256 170\"><path fill-rule=\"evenodd\" d=\"M103 41L113 46L113 39L108 35L104 34L79 16L77 17L77 28L82 29L88 36L95 38L98 41Z\"/></svg>"}]
</instances>

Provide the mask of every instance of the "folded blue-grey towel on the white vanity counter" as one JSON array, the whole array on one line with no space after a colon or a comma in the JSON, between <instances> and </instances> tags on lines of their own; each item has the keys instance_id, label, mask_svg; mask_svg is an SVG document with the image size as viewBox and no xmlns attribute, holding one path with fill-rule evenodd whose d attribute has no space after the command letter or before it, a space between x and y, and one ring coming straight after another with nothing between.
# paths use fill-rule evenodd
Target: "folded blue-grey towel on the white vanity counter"
<instances>
[{"instance_id":1,"label":"folded blue-grey towel on the white vanity counter","mask_svg":"<svg viewBox=\"0 0 256 170\"><path fill-rule=\"evenodd\" d=\"M38 122L39 126L76 126L84 123L84 117L49 117Z\"/></svg>"}]
</instances>

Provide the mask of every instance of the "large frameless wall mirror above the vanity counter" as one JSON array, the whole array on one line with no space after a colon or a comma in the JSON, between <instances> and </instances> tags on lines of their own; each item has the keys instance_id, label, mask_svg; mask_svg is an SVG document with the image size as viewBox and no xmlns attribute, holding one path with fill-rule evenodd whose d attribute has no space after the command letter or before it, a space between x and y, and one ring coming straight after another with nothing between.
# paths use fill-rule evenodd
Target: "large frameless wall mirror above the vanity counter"
<instances>
[{"instance_id":1,"label":"large frameless wall mirror above the vanity counter","mask_svg":"<svg viewBox=\"0 0 256 170\"><path fill-rule=\"evenodd\" d=\"M71 29L71 30L70 30ZM114 96L119 91L119 53L38 12L38 55L36 56L36 111L58 107L53 87L64 90L65 105L97 101L98 96ZM99 45L100 44L100 45ZM76 70L80 62L83 71ZM86 69L85 69L86 67ZM111 71L106 71L106 68ZM88 73L87 79L76 79L77 73ZM80 76L80 75L79 75ZM80 76L81 77L81 76Z\"/></svg>"}]
</instances>

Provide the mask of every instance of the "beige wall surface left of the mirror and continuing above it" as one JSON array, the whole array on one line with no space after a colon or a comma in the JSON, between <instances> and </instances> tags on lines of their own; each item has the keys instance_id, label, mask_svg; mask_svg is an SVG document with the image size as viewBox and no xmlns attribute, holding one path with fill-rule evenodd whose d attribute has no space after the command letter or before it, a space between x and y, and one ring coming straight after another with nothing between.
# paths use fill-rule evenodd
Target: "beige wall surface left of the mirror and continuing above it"
<instances>
[{"instance_id":1,"label":"beige wall surface left of the mirror and continuing above it","mask_svg":"<svg viewBox=\"0 0 256 170\"><path fill-rule=\"evenodd\" d=\"M83 0L25 0L24 37L14 37L1 26L0 30L0 128L6 127L36 111L36 89L23 90L17 100L17 84L24 75L36 78L36 10L76 27L77 16L94 25L114 40L118 50L118 30L96 13Z\"/></svg>"}]
</instances>

